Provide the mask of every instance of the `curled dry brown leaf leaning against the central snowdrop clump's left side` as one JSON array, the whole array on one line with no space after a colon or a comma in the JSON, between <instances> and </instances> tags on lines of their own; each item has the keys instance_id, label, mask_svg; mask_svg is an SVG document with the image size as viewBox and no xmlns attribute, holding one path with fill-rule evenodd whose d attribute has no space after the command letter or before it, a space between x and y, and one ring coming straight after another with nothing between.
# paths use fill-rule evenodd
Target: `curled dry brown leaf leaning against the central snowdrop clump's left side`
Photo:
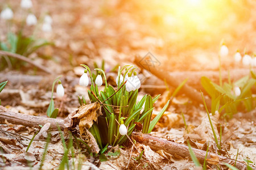
<instances>
[{"instance_id":1,"label":"curled dry brown leaf leaning against the central snowdrop clump's left side","mask_svg":"<svg viewBox=\"0 0 256 170\"><path fill-rule=\"evenodd\" d=\"M97 121L98 116L101 113L100 103L92 103L88 105L81 105L76 111L75 116L72 117L72 127L79 123L80 134L83 134L86 129L89 129L93 125L93 121Z\"/></svg>"}]
</instances>

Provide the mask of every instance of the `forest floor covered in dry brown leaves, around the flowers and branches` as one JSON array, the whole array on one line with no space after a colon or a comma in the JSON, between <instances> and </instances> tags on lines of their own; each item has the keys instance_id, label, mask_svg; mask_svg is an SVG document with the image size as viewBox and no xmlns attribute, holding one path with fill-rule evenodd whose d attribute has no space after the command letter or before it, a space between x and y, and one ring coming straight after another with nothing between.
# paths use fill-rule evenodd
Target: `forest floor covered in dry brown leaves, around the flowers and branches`
<instances>
[{"instance_id":1,"label":"forest floor covered in dry brown leaves, around the flowers and branches","mask_svg":"<svg viewBox=\"0 0 256 170\"><path fill-rule=\"evenodd\" d=\"M6 2L6 1L4 1ZM19 3L8 1L14 11L18 11ZM60 3L60 2L59 2ZM249 73L249 67L235 63L233 59L237 49L254 55L256 45L256 28L254 15L255 2L230 2L233 6L225 8L226 18L218 18L218 23L204 25L199 29L193 25L180 22L179 18L171 15L158 1L33 1L33 12L36 15L48 12L53 19L52 32L40 34L55 45L46 46L29 56L34 62L52 71L52 74L34 69L24 63L19 70L7 67L0 72L0 82L9 80L0 94L1 105L8 111L27 115L47 117L46 112L51 100L52 82L58 75L65 89L63 98L54 97L55 106L59 108L57 118L64 119L79 109L77 96L84 95L87 103L89 87L79 86L79 78L84 69L80 64L88 65L91 70L96 64L105 62L105 73L108 83L116 86L117 65L135 65L135 57L151 57L150 67L157 67L166 72L179 76L180 82L189 78L188 84L204 95L207 92L200 83L200 76L214 76L218 80L218 50L220 42L225 40L229 48L228 57L222 59L222 71L241 69ZM242 3L242 2L241 2ZM238 6L243 5L239 8ZM173 11L172 9L171 11ZM243 16L237 14L243 12ZM20 12L20 11L19 11ZM172 16L172 17L171 17ZM2 22L2 21L0 21ZM171 22L171 23L170 23ZM189 27L189 25L191 27ZM230 25L234 25L230 27ZM198 27L201 27L199 25ZM17 30L14 27L14 30ZM4 28L0 28L1 39ZM31 29L24 30L29 34ZM96 64L95 64L96 63ZM137 63L138 64L138 63ZM160 98L154 104L153 116L159 113L164 104L170 99L175 87L165 83L146 68L138 66L138 74L142 86L139 98L149 94ZM189 74L188 74L189 73ZM216 77L217 74L217 77ZM192 77L191 77L192 75ZM195 75L195 77L193 77ZM197 75L197 76L196 76ZM226 74L227 75L227 74ZM236 75L233 80L238 80ZM164 77L164 75L163 75ZM241 77L241 76L240 76ZM225 78L228 79L227 77ZM215 81L216 82L216 81ZM104 90L101 87L100 90ZM255 87L253 89L254 108L247 112L238 108L233 118L224 118L223 114L212 117L213 126L217 129L218 140L222 141L222 156L230 159L244 159L253 162L256 167L256 109ZM55 95L54 95L55 96ZM1 111L1 110L0 110ZM182 113L184 114L184 120ZM1 116L1 114L0 114ZM28 143L40 128L14 125L8 121L0 124L0 169L30 169L39 168L46 141L34 141L26 154ZM58 131L52 131L53 138L48 146L43 169L57 169L63 158L63 143ZM187 145L189 141L193 148L205 150L205 143L210 142L209 152L216 153L214 136L208 121L203 103L192 100L186 94L179 93L164 113L151 133L154 137L165 138L168 141ZM28 139L24 138L27 137ZM46 139L47 135L40 137ZM128 143L128 144L127 144ZM108 158L100 162L99 156L75 148L75 159L68 155L78 166L82 160L82 169L193 169L195 164L188 156L171 155L163 150L153 150L149 146L136 143L135 150L129 142L124 147L112 147L106 152ZM144 150L141 162L139 154ZM238 153L238 154L237 154ZM217 164L217 163L216 163ZM208 169L216 169L216 164L208 164ZM222 167L221 169L227 169Z\"/></svg>"}]
</instances>

